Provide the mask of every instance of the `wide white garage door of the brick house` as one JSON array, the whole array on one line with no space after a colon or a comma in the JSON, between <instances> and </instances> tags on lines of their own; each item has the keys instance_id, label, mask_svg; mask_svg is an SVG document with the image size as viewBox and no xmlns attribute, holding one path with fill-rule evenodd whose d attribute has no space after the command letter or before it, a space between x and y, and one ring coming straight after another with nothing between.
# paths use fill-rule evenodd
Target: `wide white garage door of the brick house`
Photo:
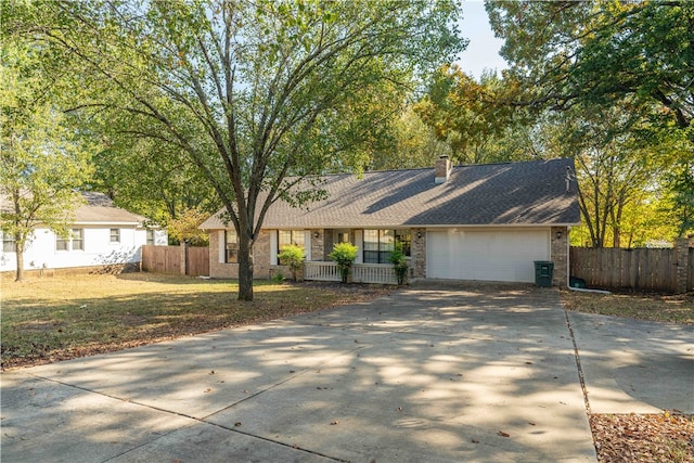
<instances>
[{"instance_id":1,"label":"wide white garage door of the brick house","mask_svg":"<svg viewBox=\"0 0 694 463\"><path fill-rule=\"evenodd\" d=\"M549 230L447 230L426 233L428 278L532 283L534 260L549 259Z\"/></svg>"}]
</instances>

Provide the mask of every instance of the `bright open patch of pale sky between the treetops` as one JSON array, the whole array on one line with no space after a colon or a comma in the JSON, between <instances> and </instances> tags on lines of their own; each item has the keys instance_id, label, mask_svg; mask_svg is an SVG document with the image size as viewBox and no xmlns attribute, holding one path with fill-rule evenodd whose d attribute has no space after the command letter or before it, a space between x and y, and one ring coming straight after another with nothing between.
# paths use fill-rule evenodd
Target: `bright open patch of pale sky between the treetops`
<instances>
[{"instance_id":1,"label":"bright open patch of pale sky between the treetops","mask_svg":"<svg viewBox=\"0 0 694 463\"><path fill-rule=\"evenodd\" d=\"M499 55L503 40L491 31L483 1L463 1L463 21L459 28L462 36L470 39L467 49L457 61L465 73L479 78L485 68L500 72L509 67Z\"/></svg>"}]
</instances>

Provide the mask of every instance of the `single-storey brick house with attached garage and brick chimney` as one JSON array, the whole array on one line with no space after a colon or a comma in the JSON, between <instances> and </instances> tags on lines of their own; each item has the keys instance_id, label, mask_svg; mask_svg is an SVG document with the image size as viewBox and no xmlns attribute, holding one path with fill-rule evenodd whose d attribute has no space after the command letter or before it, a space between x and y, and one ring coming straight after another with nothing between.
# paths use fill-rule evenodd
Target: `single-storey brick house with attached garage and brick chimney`
<instances>
[{"instance_id":1,"label":"single-storey brick house with attached garage and brick chimney","mask_svg":"<svg viewBox=\"0 0 694 463\"><path fill-rule=\"evenodd\" d=\"M327 255L359 247L354 280L394 282L388 256L400 242L410 278L534 282L535 261L553 261L553 285L568 279L568 232L580 223L573 159L330 175L327 198L301 208L278 202L254 247L255 276L268 278L278 252L306 250L304 276L339 280ZM219 214L210 232L210 276L236 278L236 234ZM284 274L288 274L284 270Z\"/></svg>"}]
</instances>

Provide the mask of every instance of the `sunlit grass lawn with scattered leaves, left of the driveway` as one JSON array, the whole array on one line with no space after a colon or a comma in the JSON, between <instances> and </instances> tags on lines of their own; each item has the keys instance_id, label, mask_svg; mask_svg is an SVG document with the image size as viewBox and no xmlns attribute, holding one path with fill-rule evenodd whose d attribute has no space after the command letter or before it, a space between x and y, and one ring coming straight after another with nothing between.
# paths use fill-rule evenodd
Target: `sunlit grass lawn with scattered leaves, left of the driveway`
<instances>
[{"instance_id":1,"label":"sunlit grass lawn with scattered leaves, left of the driveway","mask_svg":"<svg viewBox=\"0 0 694 463\"><path fill-rule=\"evenodd\" d=\"M153 273L1 283L3 369L288 317L383 292L259 281L255 300L247 303L237 300L236 282Z\"/></svg>"}]
</instances>

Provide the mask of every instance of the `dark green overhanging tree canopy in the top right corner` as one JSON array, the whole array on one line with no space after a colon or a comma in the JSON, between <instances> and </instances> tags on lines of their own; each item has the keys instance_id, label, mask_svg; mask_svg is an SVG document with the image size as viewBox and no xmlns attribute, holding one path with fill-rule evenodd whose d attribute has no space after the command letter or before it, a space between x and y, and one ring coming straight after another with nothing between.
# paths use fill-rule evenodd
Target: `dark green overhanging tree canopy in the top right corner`
<instances>
[{"instance_id":1,"label":"dark green overhanging tree canopy in the top right corner","mask_svg":"<svg viewBox=\"0 0 694 463\"><path fill-rule=\"evenodd\" d=\"M537 107L629 101L680 128L692 119L692 2L486 4L507 73Z\"/></svg>"}]
</instances>

